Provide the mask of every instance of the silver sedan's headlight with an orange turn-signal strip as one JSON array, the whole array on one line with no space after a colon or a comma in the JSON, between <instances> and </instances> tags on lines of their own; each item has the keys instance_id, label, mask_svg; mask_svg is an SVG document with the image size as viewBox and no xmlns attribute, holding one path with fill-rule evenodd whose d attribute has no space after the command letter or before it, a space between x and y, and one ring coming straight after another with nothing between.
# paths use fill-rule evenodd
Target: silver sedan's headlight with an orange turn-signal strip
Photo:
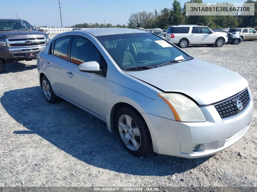
<instances>
[{"instance_id":1,"label":"silver sedan's headlight with an orange turn-signal strip","mask_svg":"<svg viewBox=\"0 0 257 192\"><path fill-rule=\"evenodd\" d=\"M176 121L180 122L204 122L206 121L201 109L191 99L178 93L159 93L170 109Z\"/></svg>"}]
</instances>

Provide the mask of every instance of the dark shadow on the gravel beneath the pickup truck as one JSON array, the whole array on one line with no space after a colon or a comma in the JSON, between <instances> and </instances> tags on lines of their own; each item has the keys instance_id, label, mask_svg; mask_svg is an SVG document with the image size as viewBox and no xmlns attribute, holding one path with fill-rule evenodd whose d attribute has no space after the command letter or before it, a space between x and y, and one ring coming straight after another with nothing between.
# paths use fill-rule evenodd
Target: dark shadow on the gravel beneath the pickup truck
<instances>
[{"instance_id":1,"label":"dark shadow on the gravel beneath the pickup truck","mask_svg":"<svg viewBox=\"0 0 257 192\"><path fill-rule=\"evenodd\" d=\"M4 71L1 74L10 73L10 72L12 73L22 72L22 71L27 71L27 70L36 69L36 68L37 68L36 60L35 60L35 65L26 65L22 62L12 61L12 62L4 63Z\"/></svg>"}]
</instances>

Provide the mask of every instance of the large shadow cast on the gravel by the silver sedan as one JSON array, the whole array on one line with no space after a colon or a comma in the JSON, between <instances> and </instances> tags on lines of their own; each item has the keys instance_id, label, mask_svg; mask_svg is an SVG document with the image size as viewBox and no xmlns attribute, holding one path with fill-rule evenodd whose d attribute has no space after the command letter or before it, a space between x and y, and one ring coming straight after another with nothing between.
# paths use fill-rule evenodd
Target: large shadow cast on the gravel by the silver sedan
<instances>
[{"instance_id":1,"label":"large shadow cast on the gravel by the silver sedan","mask_svg":"<svg viewBox=\"0 0 257 192\"><path fill-rule=\"evenodd\" d=\"M106 123L66 101L47 103L40 86L7 91L0 102L14 120L28 129L16 130L14 134L37 134L95 167L134 175L165 176L191 170L210 158L185 159L156 153L134 157L122 147L115 133L108 132Z\"/></svg>"}]
</instances>

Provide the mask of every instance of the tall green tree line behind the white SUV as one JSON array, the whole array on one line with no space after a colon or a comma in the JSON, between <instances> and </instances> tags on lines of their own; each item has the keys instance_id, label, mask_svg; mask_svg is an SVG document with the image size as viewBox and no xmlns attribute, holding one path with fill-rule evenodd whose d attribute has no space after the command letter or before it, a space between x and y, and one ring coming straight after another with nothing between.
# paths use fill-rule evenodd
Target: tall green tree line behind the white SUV
<instances>
[{"instance_id":1,"label":"tall green tree line behind the white SUV","mask_svg":"<svg viewBox=\"0 0 257 192\"><path fill-rule=\"evenodd\" d=\"M202 0L190 0L187 3L203 3ZM257 1L247 0L245 3L254 3L254 16L186 16L186 3L182 8L180 2L174 0L172 8L163 8L160 12L138 12L130 15L128 28L142 27L144 29L167 29L170 25L194 24L210 28L237 28L257 26Z\"/></svg>"}]
</instances>

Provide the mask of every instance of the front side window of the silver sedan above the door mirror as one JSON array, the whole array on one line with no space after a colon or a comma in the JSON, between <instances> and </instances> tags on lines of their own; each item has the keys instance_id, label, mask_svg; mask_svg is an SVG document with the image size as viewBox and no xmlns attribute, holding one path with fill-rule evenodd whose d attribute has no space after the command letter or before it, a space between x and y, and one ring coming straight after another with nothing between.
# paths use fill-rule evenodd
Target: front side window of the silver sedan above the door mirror
<instances>
[{"instance_id":1,"label":"front side window of the silver sedan above the door mirror","mask_svg":"<svg viewBox=\"0 0 257 192\"><path fill-rule=\"evenodd\" d=\"M75 36L71 43L71 62L79 65L84 62L99 62L99 52L86 39Z\"/></svg>"}]
</instances>

